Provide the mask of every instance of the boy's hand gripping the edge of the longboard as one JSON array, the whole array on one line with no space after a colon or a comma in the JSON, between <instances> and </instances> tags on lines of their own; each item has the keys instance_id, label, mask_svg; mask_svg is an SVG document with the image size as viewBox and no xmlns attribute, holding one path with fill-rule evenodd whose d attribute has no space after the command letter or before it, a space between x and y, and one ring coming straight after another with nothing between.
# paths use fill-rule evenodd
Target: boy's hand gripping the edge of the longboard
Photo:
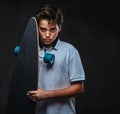
<instances>
[{"instance_id":1,"label":"boy's hand gripping the edge of the longboard","mask_svg":"<svg viewBox=\"0 0 120 114\"><path fill-rule=\"evenodd\" d=\"M37 90L28 91L27 97L30 98L32 101L37 102L39 100L45 99L45 90L38 88Z\"/></svg>"}]
</instances>

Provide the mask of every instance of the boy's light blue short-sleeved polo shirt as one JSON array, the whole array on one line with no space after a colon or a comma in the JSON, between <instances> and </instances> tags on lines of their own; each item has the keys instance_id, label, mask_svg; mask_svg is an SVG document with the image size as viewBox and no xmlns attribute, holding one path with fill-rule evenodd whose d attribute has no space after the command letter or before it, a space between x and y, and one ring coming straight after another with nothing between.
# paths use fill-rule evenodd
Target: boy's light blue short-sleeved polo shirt
<instances>
[{"instance_id":1,"label":"boy's light blue short-sleeved polo shirt","mask_svg":"<svg viewBox=\"0 0 120 114\"><path fill-rule=\"evenodd\" d=\"M74 46L58 39L55 47L46 50L55 55L53 65L44 63L45 48L39 50L40 72L38 87L57 90L70 86L71 82L85 80L81 58ZM39 101L36 114L75 114L75 98L55 98Z\"/></svg>"}]
</instances>

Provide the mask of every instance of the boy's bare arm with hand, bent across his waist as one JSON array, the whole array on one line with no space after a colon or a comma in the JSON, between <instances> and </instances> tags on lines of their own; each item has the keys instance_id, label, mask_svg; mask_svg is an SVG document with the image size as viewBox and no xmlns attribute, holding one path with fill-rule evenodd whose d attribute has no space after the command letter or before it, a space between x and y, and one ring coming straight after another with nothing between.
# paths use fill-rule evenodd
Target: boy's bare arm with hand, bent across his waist
<instances>
[{"instance_id":1,"label":"boy's bare arm with hand, bent across his waist","mask_svg":"<svg viewBox=\"0 0 120 114\"><path fill-rule=\"evenodd\" d=\"M44 90L38 88L35 91L28 91L27 96L33 101L51 99L51 98L65 98L76 96L83 92L84 85L82 82L73 83L69 87L59 90Z\"/></svg>"}]
</instances>

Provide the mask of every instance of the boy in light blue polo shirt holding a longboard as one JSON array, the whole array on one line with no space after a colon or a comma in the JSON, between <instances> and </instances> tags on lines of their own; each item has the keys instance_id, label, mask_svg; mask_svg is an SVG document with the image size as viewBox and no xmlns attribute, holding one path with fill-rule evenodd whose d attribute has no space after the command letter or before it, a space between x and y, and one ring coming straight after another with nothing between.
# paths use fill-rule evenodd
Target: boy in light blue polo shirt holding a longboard
<instances>
[{"instance_id":1,"label":"boy in light blue polo shirt holding a longboard","mask_svg":"<svg viewBox=\"0 0 120 114\"><path fill-rule=\"evenodd\" d=\"M61 10L43 6L35 15L40 37L38 89L27 96L37 102L36 114L75 114L75 96L84 90L84 70L76 48L58 38L63 23ZM55 55L53 65L44 63L46 52Z\"/></svg>"}]
</instances>

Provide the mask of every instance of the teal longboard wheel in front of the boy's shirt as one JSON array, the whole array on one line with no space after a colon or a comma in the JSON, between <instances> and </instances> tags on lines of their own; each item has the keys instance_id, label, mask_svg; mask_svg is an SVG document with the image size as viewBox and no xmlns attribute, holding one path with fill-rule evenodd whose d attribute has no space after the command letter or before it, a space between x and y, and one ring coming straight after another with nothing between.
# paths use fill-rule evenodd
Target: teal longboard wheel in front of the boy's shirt
<instances>
[{"instance_id":1,"label":"teal longboard wheel in front of the boy's shirt","mask_svg":"<svg viewBox=\"0 0 120 114\"><path fill-rule=\"evenodd\" d=\"M45 63L52 65L54 63L54 60L55 60L55 55L50 54L50 53L45 53L45 56L43 59L44 59Z\"/></svg>"}]
</instances>

